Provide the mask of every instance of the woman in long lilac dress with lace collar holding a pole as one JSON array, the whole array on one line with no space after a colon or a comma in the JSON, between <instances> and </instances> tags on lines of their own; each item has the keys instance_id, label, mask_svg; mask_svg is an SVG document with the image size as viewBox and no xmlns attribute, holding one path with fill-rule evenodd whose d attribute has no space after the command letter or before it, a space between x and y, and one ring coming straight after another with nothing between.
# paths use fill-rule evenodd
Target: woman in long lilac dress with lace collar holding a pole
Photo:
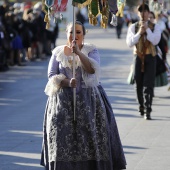
<instances>
[{"instance_id":1,"label":"woman in long lilac dress with lace collar holding a pole","mask_svg":"<svg viewBox=\"0 0 170 170\"><path fill-rule=\"evenodd\" d=\"M86 31L81 22L75 23L75 40L72 33L71 23L67 26L67 44L52 51L48 66L41 165L46 170L126 169L115 117L99 84L98 50L84 43Z\"/></svg>"}]
</instances>

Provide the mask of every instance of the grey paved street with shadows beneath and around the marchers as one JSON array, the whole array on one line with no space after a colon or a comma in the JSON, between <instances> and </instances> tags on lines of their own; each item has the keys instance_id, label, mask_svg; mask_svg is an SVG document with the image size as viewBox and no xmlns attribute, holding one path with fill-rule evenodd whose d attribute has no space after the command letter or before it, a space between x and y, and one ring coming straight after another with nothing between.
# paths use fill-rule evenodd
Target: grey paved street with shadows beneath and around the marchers
<instances>
[{"instance_id":1,"label":"grey paved street with shadows beneath and around the marchers","mask_svg":"<svg viewBox=\"0 0 170 170\"><path fill-rule=\"evenodd\" d=\"M127 84L133 55L126 31L117 39L114 28L88 26L85 42L99 49L101 83L113 107L127 170L170 170L170 91L168 86L155 88L153 120L139 115L134 86ZM57 45L65 43L62 31ZM0 72L0 170L44 169L39 162L48 61Z\"/></svg>"}]
</instances>

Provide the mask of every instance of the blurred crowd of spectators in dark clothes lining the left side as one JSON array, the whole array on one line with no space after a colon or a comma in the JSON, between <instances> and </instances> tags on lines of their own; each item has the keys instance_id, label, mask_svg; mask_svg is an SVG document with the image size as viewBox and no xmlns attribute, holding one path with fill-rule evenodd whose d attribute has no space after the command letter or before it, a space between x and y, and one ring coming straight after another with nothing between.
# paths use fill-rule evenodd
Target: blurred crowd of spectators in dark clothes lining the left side
<instances>
[{"instance_id":1,"label":"blurred crowd of spectators in dark clothes lining the left side","mask_svg":"<svg viewBox=\"0 0 170 170\"><path fill-rule=\"evenodd\" d=\"M46 29L42 2L0 4L0 70L9 66L24 66L51 55L59 33L58 22Z\"/></svg>"}]
</instances>

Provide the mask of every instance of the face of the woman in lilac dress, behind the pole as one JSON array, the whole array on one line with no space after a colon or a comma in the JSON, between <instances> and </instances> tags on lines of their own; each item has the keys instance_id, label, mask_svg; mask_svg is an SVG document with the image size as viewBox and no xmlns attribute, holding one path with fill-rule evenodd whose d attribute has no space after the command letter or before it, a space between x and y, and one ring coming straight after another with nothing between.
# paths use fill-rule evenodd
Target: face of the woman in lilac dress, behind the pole
<instances>
[{"instance_id":1,"label":"face of the woman in lilac dress, behind the pole","mask_svg":"<svg viewBox=\"0 0 170 170\"><path fill-rule=\"evenodd\" d=\"M68 27L67 40L70 46L73 41L73 26L72 25ZM79 48L81 48L83 44L83 40L84 40L82 25L79 25L79 24L75 25L75 40Z\"/></svg>"}]
</instances>

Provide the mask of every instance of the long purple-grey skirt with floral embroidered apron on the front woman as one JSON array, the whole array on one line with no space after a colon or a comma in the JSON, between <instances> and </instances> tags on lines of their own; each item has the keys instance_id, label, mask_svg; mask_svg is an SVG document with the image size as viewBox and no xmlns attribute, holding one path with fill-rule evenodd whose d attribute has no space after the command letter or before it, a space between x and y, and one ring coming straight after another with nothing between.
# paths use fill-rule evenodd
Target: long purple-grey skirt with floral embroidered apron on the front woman
<instances>
[{"instance_id":1,"label":"long purple-grey skirt with floral embroidered apron on the front woman","mask_svg":"<svg viewBox=\"0 0 170 170\"><path fill-rule=\"evenodd\" d=\"M126 160L114 113L101 85L76 94L70 88L49 97L41 162L46 170L120 170Z\"/></svg>"}]
</instances>

